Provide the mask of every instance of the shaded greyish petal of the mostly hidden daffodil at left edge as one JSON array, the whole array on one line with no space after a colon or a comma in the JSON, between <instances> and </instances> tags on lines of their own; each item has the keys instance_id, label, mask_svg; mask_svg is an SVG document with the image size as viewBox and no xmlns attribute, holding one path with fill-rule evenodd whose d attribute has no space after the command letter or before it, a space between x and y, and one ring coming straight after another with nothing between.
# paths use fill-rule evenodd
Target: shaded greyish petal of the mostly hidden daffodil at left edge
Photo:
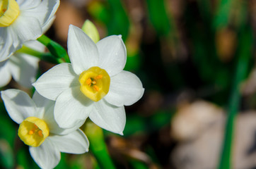
<instances>
[{"instance_id":1,"label":"shaded greyish petal of the mostly hidden daffodil at left edge","mask_svg":"<svg viewBox=\"0 0 256 169\"><path fill-rule=\"evenodd\" d=\"M39 59L26 54L15 53L9 58L8 67L13 79L24 87L35 82Z\"/></svg>"}]
</instances>

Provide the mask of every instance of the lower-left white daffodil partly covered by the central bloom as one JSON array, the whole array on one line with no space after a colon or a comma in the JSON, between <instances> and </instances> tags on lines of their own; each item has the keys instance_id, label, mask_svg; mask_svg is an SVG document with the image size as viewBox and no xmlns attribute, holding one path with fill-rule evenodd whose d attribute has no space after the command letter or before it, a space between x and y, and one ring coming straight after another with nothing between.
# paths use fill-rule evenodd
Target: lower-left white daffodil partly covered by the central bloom
<instances>
[{"instance_id":1,"label":"lower-left white daffodil partly covered by the central bloom","mask_svg":"<svg viewBox=\"0 0 256 169\"><path fill-rule=\"evenodd\" d=\"M40 168L54 168L60 152L83 154L88 151L86 135L78 129L62 129L54 120L54 101L35 92L33 99L18 89L1 92L8 115L19 124L18 136L29 146L34 161Z\"/></svg>"}]
</instances>

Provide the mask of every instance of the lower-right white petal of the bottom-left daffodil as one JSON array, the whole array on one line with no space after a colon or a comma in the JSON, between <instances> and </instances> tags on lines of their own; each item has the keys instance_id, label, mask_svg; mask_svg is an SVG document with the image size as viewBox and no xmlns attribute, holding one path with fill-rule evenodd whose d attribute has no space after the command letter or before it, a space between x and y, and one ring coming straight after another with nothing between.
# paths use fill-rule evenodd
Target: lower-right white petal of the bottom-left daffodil
<instances>
[{"instance_id":1,"label":"lower-right white petal of the bottom-left daffodil","mask_svg":"<svg viewBox=\"0 0 256 169\"><path fill-rule=\"evenodd\" d=\"M88 151L89 141L79 129L66 135L53 135L49 139L64 153L83 154Z\"/></svg>"}]
</instances>

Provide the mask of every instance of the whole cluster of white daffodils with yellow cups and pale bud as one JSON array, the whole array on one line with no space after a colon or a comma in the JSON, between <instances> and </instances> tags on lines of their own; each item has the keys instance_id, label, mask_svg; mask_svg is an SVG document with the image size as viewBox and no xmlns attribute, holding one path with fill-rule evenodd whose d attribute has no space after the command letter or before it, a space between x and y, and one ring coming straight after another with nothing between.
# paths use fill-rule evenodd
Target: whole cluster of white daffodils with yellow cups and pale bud
<instances>
[{"instance_id":1,"label":"whole cluster of white daffodils with yellow cups and pale bud","mask_svg":"<svg viewBox=\"0 0 256 169\"><path fill-rule=\"evenodd\" d=\"M13 77L35 87L33 99L18 89L1 91L6 111L18 123L18 137L29 146L40 168L54 168L59 152L83 154L88 139L79 129L87 118L110 132L122 134L124 106L141 99L144 88L124 69L127 51L121 35L99 41L94 25L83 30L70 25L68 54L71 63L59 63L35 82L40 58L21 47L44 51L36 41L54 20L59 0L0 1L0 87ZM20 49L20 50L18 50Z\"/></svg>"}]
</instances>

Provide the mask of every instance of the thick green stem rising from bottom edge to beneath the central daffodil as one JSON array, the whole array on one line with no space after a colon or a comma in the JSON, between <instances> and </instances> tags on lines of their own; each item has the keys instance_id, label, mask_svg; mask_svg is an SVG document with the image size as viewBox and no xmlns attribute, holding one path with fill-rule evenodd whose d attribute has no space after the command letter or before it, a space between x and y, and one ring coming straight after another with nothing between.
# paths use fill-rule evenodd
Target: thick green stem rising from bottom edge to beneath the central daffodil
<instances>
[{"instance_id":1,"label":"thick green stem rising from bottom edge to beneath the central daffodil","mask_svg":"<svg viewBox=\"0 0 256 169\"><path fill-rule=\"evenodd\" d=\"M86 133L86 136L90 141L90 150L93 152L93 155L98 161L100 168L114 169L115 165L113 164L112 159L107 152L103 130L93 122L87 121L83 131Z\"/></svg>"}]
</instances>

